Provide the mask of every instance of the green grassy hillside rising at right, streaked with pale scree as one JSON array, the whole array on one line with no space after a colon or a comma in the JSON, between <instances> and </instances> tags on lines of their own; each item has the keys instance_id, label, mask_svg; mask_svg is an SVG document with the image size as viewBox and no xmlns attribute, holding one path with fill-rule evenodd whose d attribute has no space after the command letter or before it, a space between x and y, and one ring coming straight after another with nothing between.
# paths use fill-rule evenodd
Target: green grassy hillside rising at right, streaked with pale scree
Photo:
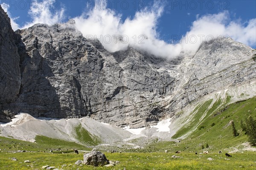
<instances>
[{"instance_id":1,"label":"green grassy hillside rising at right, streaked with pale scree","mask_svg":"<svg viewBox=\"0 0 256 170\"><path fill-rule=\"evenodd\" d=\"M230 97L227 97L229 100ZM247 142L247 135L241 131L240 120L245 119L248 116L256 116L256 97L247 99L245 101L236 102L230 105L226 104L227 101L217 100L212 108L208 110L205 106L209 106L209 101L202 105L202 109L196 108L198 115L193 117L193 121L189 122L189 125L181 128L173 139L179 138L188 133L188 127L195 129L186 139L181 140L180 143L175 142L157 142L149 144L145 147L146 150L154 151L161 148L168 148L169 150L186 150L186 151L202 151L201 145L206 147L209 144L209 150L215 152L221 149L229 150L230 147L235 147L239 144ZM222 105L218 108L219 105ZM218 109L216 109L218 108ZM206 114L201 122L198 119L203 114ZM231 121L234 121L236 130L239 132L239 136L234 137L232 133L232 127L229 125Z\"/></svg>"}]
</instances>

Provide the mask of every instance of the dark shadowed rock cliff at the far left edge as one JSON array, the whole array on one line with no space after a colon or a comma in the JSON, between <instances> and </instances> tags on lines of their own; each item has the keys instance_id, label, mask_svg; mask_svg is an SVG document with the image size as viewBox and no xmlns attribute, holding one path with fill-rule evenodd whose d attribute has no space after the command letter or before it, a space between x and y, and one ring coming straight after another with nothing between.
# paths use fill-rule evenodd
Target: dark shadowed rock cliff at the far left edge
<instances>
[{"instance_id":1,"label":"dark shadowed rock cliff at the far left edge","mask_svg":"<svg viewBox=\"0 0 256 170\"><path fill-rule=\"evenodd\" d=\"M0 122L9 122L14 115L15 109L9 104L15 102L20 91L20 56L15 43L10 19L0 6Z\"/></svg>"}]
</instances>

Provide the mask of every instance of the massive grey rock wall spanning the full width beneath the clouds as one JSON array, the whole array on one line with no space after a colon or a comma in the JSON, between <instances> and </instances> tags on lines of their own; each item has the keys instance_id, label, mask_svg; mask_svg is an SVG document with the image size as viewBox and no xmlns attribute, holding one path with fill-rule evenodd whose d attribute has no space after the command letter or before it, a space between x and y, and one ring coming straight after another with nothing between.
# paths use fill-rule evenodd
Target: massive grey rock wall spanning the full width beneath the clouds
<instances>
[{"instance_id":1,"label":"massive grey rock wall spanning the full width beneath the clouds","mask_svg":"<svg viewBox=\"0 0 256 170\"><path fill-rule=\"evenodd\" d=\"M232 39L205 42L195 55L170 60L132 48L111 54L99 41L85 39L72 20L14 34L1 11L6 52L0 55L0 105L9 113L89 115L143 127L172 117L201 96L256 79L256 51Z\"/></svg>"}]
</instances>

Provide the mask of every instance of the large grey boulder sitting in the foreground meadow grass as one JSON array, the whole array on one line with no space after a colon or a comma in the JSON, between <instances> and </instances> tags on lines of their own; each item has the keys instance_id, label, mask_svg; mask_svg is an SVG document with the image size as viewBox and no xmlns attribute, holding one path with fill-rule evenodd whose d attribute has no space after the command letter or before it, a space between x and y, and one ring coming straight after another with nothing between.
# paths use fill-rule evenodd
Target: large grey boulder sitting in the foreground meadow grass
<instances>
[{"instance_id":1,"label":"large grey boulder sitting in the foreground meadow grass","mask_svg":"<svg viewBox=\"0 0 256 170\"><path fill-rule=\"evenodd\" d=\"M93 149L89 153L84 153L84 164L93 166L104 166L109 164L109 160L106 158L104 153L99 150Z\"/></svg>"}]
</instances>

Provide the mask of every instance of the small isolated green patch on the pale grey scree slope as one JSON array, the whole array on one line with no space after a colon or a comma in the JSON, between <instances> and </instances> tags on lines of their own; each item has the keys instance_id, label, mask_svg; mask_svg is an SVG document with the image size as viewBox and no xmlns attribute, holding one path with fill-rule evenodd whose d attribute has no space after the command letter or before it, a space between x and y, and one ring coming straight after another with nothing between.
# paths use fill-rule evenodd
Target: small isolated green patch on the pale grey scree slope
<instances>
[{"instance_id":1,"label":"small isolated green patch on the pale grey scree slope","mask_svg":"<svg viewBox=\"0 0 256 170\"><path fill-rule=\"evenodd\" d=\"M75 132L76 138L84 144L97 145L100 143L99 138L90 134L81 124L75 127Z\"/></svg>"}]
</instances>

